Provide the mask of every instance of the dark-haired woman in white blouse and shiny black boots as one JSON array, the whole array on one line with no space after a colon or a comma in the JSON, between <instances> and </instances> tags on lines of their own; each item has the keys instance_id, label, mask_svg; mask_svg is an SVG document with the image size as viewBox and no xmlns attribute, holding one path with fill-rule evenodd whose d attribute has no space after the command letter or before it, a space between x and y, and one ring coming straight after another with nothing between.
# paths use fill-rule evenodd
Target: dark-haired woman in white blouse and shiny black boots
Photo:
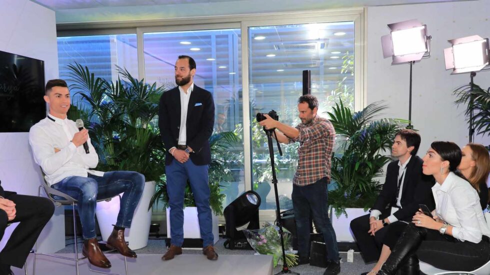
<instances>
[{"instance_id":1,"label":"dark-haired woman in white blouse and shiny black boots","mask_svg":"<svg viewBox=\"0 0 490 275\"><path fill-rule=\"evenodd\" d=\"M455 143L430 144L423 157L422 172L433 175L437 181L432 187L434 216L421 210L413 216L377 274L395 274L409 258L411 261L418 258L437 268L461 271L474 270L490 260L490 229L478 193L456 171L460 161L461 149Z\"/></svg>"}]
</instances>

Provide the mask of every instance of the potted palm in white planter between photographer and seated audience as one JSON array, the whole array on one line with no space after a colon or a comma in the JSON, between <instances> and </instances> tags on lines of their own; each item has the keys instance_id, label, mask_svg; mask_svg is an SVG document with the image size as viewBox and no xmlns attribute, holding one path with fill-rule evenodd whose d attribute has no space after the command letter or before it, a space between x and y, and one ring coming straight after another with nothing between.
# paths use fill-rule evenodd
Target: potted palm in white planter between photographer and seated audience
<instances>
[{"instance_id":1,"label":"potted palm in white planter between photographer and seated audience","mask_svg":"<svg viewBox=\"0 0 490 275\"><path fill-rule=\"evenodd\" d=\"M335 128L338 149L331 159L334 189L328 192L332 208L332 225L337 240L352 241L350 219L360 216L374 205L381 189L378 177L390 161L389 151L396 132L407 121L377 119L388 108L382 101L373 102L360 111L351 112L342 100L327 112ZM345 217L341 217L344 214Z\"/></svg>"}]
</instances>

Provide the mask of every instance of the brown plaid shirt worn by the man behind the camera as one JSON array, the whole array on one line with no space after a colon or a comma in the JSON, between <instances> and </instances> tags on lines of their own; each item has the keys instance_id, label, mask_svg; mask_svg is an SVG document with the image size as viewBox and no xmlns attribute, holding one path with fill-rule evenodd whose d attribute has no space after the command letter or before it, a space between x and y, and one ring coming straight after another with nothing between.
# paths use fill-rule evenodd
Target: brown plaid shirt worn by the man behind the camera
<instances>
[{"instance_id":1,"label":"brown plaid shirt worn by the man behind the camera","mask_svg":"<svg viewBox=\"0 0 490 275\"><path fill-rule=\"evenodd\" d=\"M330 163L335 140L335 129L328 119L318 115L308 124L298 124L298 163L292 183L305 186L326 177L330 180Z\"/></svg>"}]
</instances>

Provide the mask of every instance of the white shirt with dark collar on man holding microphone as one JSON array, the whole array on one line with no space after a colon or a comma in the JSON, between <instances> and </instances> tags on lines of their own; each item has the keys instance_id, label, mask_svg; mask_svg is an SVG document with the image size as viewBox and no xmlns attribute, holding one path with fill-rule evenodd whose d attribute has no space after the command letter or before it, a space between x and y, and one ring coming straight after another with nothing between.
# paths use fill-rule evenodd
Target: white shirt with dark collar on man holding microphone
<instances>
[{"instance_id":1,"label":"white shirt with dark collar on man holding microphone","mask_svg":"<svg viewBox=\"0 0 490 275\"><path fill-rule=\"evenodd\" d=\"M88 138L89 153L83 146L76 147L71 139L78 132L75 121L61 119L50 114L29 130L29 143L34 161L41 166L46 182L52 185L67 176L87 176L88 173L102 176L103 172L89 170L98 163L98 155ZM59 151L55 152L54 148Z\"/></svg>"}]
</instances>

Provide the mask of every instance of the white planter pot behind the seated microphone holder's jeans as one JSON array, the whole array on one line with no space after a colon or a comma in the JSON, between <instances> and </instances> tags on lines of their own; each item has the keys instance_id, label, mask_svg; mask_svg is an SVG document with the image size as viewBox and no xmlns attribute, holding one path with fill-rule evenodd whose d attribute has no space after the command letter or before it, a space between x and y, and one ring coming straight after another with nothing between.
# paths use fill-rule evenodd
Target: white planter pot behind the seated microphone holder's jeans
<instances>
[{"instance_id":1,"label":"white planter pot behind the seated microphone holder's jeans","mask_svg":"<svg viewBox=\"0 0 490 275\"><path fill-rule=\"evenodd\" d=\"M149 226L151 223L151 208L148 210L148 205L154 193L155 182L145 182L141 199L136 206L136 210L134 210L131 227L124 230L124 238L129 242L129 248L131 249L139 249L148 244ZM97 216L102 240L107 240L112 232L112 224L115 224L117 220L119 206L120 201L118 196L112 198L110 201L97 202L95 215Z\"/></svg>"}]
</instances>

